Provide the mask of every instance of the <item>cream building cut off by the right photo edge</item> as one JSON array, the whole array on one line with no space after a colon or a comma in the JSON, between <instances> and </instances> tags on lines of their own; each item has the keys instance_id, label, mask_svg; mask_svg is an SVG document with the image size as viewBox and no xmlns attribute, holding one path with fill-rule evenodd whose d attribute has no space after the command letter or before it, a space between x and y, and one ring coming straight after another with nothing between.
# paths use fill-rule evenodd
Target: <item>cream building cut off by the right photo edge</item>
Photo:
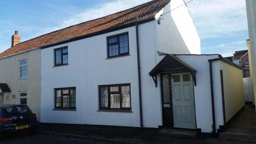
<instances>
[{"instance_id":1,"label":"cream building cut off by the right photo edge","mask_svg":"<svg viewBox=\"0 0 256 144\"><path fill-rule=\"evenodd\" d=\"M255 31L255 12L256 12L256 1L245 0L246 2L246 13L248 21L248 32L249 38L247 40L247 47L249 53L249 65L250 65L250 76L251 76L251 86L253 95L253 104L256 100L256 31Z\"/></svg>"}]
</instances>

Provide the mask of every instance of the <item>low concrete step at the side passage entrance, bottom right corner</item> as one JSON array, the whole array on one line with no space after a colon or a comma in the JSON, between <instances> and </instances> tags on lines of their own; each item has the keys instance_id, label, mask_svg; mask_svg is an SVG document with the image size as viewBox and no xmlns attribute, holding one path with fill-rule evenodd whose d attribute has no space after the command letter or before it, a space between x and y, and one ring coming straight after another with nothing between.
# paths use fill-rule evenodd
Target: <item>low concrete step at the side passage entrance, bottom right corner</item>
<instances>
[{"instance_id":1,"label":"low concrete step at the side passage entrance, bottom right corner","mask_svg":"<svg viewBox=\"0 0 256 144\"><path fill-rule=\"evenodd\" d=\"M255 132L224 132L219 133L219 138L222 140L239 140L247 142L256 142Z\"/></svg>"}]
</instances>

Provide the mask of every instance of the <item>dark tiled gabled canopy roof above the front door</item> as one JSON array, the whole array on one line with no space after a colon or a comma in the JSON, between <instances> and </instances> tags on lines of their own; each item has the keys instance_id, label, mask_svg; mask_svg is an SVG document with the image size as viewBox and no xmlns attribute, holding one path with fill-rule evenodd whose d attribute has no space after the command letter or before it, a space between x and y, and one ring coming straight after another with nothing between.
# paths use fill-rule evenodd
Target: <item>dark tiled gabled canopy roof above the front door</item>
<instances>
[{"instance_id":1,"label":"dark tiled gabled canopy roof above the front door","mask_svg":"<svg viewBox=\"0 0 256 144\"><path fill-rule=\"evenodd\" d=\"M185 72L196 73L196 70L180 60L174 54L166 54L164 58L148 73L149 76L156 76L163 72Z\"/></svg>"}]
</instances>

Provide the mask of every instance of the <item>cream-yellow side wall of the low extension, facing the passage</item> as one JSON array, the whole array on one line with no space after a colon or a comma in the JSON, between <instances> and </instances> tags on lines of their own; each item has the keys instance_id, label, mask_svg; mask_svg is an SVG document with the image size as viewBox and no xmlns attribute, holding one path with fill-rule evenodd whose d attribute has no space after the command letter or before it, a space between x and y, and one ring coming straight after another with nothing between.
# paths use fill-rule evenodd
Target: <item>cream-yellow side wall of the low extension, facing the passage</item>
<instances>
[{"instance_id":1,"label":"cream-yellow side wall of the low extension, facing the passage","mask_svg":"<svg viewBox=\"0 0 256 144\"><path fill-rule=\"evenodd\" d=\"M244 106L243 70L222 61L226 121Z\"/></svg>"}]
</instances>

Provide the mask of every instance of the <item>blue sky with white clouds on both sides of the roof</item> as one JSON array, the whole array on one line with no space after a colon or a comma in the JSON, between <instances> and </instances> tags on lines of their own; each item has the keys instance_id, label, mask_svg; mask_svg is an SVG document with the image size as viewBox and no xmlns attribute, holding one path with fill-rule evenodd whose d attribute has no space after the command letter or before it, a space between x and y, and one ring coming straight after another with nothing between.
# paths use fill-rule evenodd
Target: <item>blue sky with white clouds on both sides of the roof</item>
<instances>
[{"instance_id":1,"label":"blue sky with white clouds on both sides of the roof","mask_svg":"<svg viewBox=\"0 0 256 144\"><path fill-rule=\"evenodd\" d=\"M27 0L1 1L0 52L19 31L21 41L99 18L147 0ZM188 2L189 0L185 0ZM194 0L187 4L201 38L203 53L231 56L247 49L249 38L245 0Z\"/></svg>"}]
</instances>

